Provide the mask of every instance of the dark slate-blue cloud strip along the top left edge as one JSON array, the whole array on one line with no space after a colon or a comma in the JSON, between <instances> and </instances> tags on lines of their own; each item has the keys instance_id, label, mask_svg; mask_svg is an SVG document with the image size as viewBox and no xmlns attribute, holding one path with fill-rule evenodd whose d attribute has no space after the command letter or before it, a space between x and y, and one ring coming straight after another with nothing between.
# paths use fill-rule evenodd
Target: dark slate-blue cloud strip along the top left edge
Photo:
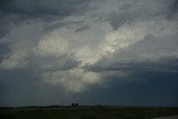
<instances>
[{"instance_id":1,"label":"dark slate-blue cloud strip along the top left edge","mask_svg":"<svg viewBox=\"0 0 178 119\"><path fill-rule=\"evenodd\" d=\"M13 0L1 1L1 16L18 16L21 19L63 18L70 14L82 13L89 0Z\"/></svg>"}]
</instances>

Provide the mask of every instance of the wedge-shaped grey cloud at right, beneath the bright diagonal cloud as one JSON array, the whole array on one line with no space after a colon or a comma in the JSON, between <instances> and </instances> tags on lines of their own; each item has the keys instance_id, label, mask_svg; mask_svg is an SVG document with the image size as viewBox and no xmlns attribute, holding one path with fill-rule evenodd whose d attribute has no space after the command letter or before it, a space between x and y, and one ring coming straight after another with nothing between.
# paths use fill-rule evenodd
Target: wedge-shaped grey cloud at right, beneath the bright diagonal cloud
<instances>
[{"instance_id":1,"label":"wedge-shaped grey cloud at right, beneath the bright diagonal cloud","mask_svg":"<svg viewBox=\"0 0 178 119\"><path fill-rule=\"evenodd\" d=\"M98 63L86 67L89 70L101 71L141 71L162 70L178 71L178 40L172 36L146 36L131 47L116 51ZM161 42L161 43L160 43Z\"/></svg>"}]
</instances>

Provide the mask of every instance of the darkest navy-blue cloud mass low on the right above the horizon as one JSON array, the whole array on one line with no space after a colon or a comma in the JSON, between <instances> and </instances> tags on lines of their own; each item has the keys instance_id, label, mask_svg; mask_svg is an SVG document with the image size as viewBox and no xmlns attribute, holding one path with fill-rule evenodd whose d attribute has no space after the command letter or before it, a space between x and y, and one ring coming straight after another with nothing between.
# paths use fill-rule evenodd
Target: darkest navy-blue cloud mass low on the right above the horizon
<instances>
[{"instance_id":1,"label":"darkest navy-blue cloud mass low on the right above the horizon","mask_svg":"<svg viewBox=\"0 0 178 119\"><path fill-rule=\"evenodd\" d=\"M130 77L115 77L108 80L110 81L109 86L106 86L108 88L95 87L92 89L95 91L79 96L78 100L90 105L97 102L115 106L176 106L178 103L175 72L147 70Z\"/></svg>"}]
</instances>

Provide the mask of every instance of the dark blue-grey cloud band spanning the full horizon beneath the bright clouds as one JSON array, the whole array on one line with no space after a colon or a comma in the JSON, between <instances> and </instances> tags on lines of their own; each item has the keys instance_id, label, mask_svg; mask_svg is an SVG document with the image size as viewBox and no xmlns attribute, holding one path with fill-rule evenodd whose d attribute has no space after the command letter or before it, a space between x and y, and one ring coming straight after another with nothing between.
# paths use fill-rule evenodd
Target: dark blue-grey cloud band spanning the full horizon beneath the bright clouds
<instances>
[{"instance_id":1,"label":"dark blue-grey cloud band spanning the full horizon beneath the bright clouds","mask_svg":"<svg viewBox=\"0 0 178 119\"><path fill-rule=\"evenodd\" d=\"M119 105L119 106L176 106L177 73L139 70L129 77L110 77L108 88L91 87L92 91L66 95L59 86L49 86L33 72L1 72L0 106L33 105ZM14 76L11 78L10 76ZM28 79L26 77L29 77ZM2 81L2 78L4 81ZM7 80L8 79L8 80ZM107 98L109 97L109 98ZM164 100L162 100L164 99Z\"/></svg>"}]
</instances>

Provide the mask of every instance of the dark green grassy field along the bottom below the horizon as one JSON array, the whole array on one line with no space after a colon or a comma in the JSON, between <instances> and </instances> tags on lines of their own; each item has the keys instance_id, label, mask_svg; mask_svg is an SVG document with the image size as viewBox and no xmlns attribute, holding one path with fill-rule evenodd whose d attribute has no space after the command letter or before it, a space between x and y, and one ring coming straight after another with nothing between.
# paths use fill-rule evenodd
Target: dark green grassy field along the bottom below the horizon
<instances>
[{"instance_id":1,"label":"dark green grassy field along the bottom below the horizon","mask_svg":"<svg viewBox=\"0 0 178 119\"><path fill-rule=\"evenodd\" d=\"M0 108L0 119L151 119L178 115L171 107L22 107Z\"/></svg>"}]
</instances>

